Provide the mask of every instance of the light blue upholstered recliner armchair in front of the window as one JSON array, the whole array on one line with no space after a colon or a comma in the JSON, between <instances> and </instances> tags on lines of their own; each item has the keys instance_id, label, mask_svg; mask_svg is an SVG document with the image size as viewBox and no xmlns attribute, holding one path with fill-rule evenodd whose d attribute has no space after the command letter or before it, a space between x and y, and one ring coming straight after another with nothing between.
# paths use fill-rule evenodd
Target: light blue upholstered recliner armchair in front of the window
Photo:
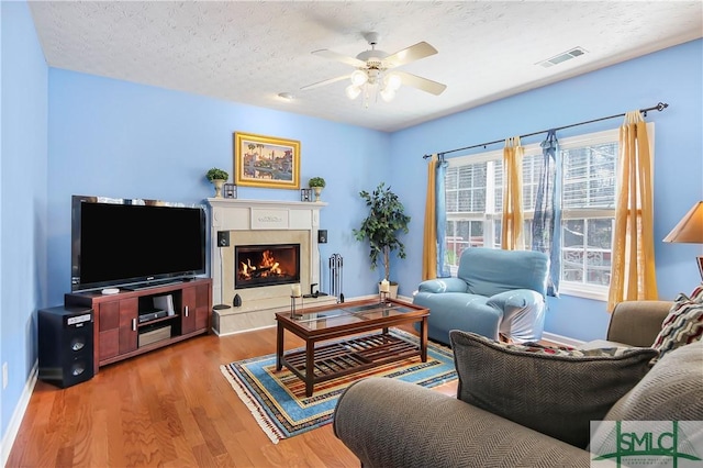
<instances>
[{"instance_id":1,"label":"light blue upholstered recliner armchair in front of the window","mask_svg":"<svg viewBox=\"0 0 703 468\"><path fill-rule=\"evenodd\" d=\"M542 252L467 248L457 276L421 282L413 303L429 309L428 337L446 345L450 330L536 342L544 330L548 270Z\"/></svg>"}]
</instances>

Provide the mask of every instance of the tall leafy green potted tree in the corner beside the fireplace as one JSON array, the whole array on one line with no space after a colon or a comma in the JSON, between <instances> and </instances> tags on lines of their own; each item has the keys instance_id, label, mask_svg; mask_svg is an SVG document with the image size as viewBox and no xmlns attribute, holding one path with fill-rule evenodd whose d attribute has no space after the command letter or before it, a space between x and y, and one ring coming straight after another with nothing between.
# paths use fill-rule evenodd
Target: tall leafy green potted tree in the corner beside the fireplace
<instances>
[{"instance_id":1,"label":"tall leafy green potted tree in the corner beside the fireplace","mask_svg":"<svg viewBox=\"0 0 703 468\"><path fill-rule=\"evenodd\" d=\"M390 281L391 252L398 250L398 258L405 258L405 246L398 236L401 233L408 234L410 216L405 214L403 203L398 196L391 191L390 187L386 187L384 182L379 183L372 193L362 190L359 196L366 201L369 214L361 222L361 227L354 230L354 236L361 242L368 239L371 269L375 270L378 266L380 255L384 268L383 279ZM398 290L397 282L390 281L390 285ZM394 296L391 292L391 297Z\"/></svg>"}]
</instances>

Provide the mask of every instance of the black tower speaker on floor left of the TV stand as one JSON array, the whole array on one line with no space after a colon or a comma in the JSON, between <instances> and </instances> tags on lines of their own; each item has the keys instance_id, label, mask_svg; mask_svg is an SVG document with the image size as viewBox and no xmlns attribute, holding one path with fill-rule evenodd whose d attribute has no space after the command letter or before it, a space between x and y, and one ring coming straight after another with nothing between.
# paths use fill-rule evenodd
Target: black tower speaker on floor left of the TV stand
<instances>
[{"instance_id":1,"label":"black tower speaker on floor left of the TV stand","mask_svg":"<svg viewBox=\"0 0 703 468\"><path fill-rule=\"evenodd\" d=\"M90 308L38 311L41 380L66 388L92 378L93 323Z\"/></svg>"}]
</instances>

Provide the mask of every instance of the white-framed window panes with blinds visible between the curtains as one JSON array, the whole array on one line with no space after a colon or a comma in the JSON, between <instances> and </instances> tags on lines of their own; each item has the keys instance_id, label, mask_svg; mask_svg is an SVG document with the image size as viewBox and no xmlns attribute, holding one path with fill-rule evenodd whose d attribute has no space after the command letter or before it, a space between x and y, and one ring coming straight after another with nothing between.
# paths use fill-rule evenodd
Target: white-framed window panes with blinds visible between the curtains
<instances>
[{"instance_id":1,"label":"white-framed window panes with blinds visible between the curtains","mask_svg":"<svg viewBox=\"0 0 703 468\"><path fill-rule=\"evenodd\" d=\"M652 124L648 124L654 135ZM650 142L651 144L651 142ZM560 292L606 299L615 220L618 130L559 141L562 170ZM456 274L464 249L500 248L503 205L503 151L448 159L446 261ZM525 247L532 244L532 218L542 147L525 146L523 211Z\"/></svg>"}]
</instances>

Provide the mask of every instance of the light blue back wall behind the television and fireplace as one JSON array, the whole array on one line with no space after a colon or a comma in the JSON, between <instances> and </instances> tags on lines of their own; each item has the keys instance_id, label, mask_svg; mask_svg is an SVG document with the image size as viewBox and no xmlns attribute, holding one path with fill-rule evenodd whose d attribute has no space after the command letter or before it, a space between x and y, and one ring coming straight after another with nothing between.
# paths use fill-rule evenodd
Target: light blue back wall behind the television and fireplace
<instances>
[{"instance_id":1,"label":"light blue back wall behind the television and fireplace","mask_svg":"<svg viewBox=\"0 0 703 468\"><path fill-rule=\"evenodd\" d=\"M322 198L330 204L321 224L328 244L321 246L321 257L344 256L346 296L370 292L366 247L353 239L352 229L364 208L358 190L376 186L390 170L390 135L52 68L48 170L69 176L48 181L52 303L62 303L70 290L71 194L201 202L214 193L208 169L221 167L234 177L235 131L301 142L301 183L314 176L327 182ZM298 190L238 187L237 196L300 200Z\"/></svg>"}]
</instances>

